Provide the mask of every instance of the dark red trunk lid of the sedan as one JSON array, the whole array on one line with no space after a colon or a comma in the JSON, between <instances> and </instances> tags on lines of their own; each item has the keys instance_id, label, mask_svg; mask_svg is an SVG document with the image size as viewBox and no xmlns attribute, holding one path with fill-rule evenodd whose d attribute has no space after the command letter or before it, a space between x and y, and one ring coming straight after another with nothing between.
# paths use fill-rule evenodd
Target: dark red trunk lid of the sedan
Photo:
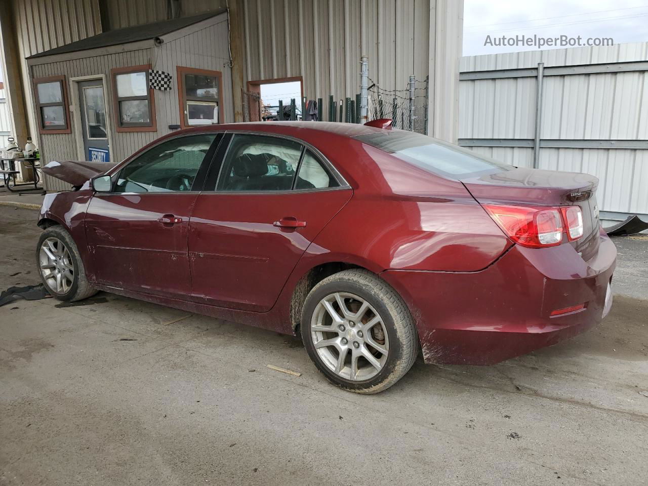
<instances>
[{"instance_id":1,"label":"dark red trunk lid of the sedan","mask_svg":"<svg viewBox=\"0 0 648 486\"><path fill-rule=\"evenodd\" d=\"M599 247L598 181L590 174L533 168L514 168L460 179L481 204L579 206L583 237L570 244L588 260Z\"/></svg>"}]
</instances>

